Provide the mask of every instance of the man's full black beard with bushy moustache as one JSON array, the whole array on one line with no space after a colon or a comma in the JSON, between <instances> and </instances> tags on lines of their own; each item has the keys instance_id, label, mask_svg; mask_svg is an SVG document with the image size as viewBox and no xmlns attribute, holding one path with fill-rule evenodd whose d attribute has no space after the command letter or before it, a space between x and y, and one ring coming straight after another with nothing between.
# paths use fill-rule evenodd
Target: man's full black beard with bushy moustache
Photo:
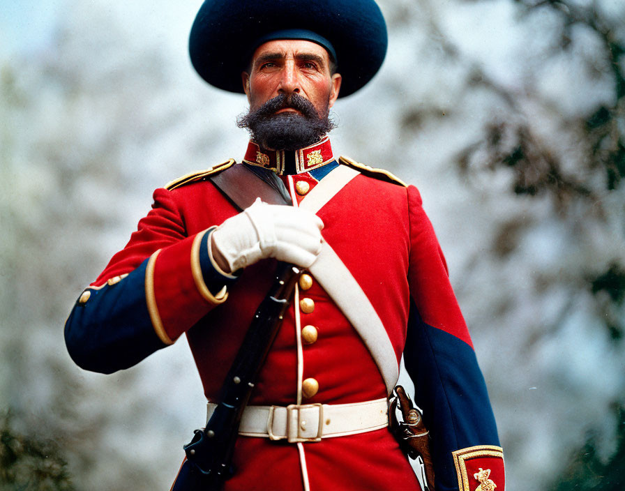
<instances>
[{"instance_id":1,"label":"man's full black beard with bushy moustache","mask_svg":"<svg viewBox=\"0 0 625 491\"><path fill-rule=\"evenodd\" d=\"M276 111L285 107L297 109L301 114ZM271 150L298 150L317 143L335 124L329 117L330 107L319 114L310 100L292 93L280 94L254 111L236 119L236 126L248 128L252 139Z\"/></svg>"}]
</instances>

